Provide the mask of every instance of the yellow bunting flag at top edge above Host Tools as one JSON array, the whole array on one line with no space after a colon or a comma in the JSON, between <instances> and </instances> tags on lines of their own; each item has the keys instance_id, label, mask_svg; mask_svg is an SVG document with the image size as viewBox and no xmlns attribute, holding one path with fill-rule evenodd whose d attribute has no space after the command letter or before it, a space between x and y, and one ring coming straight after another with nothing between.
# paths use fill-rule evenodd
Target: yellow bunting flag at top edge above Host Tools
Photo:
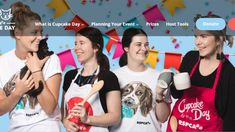
<instances>
[{"instance_id":1,"label":"yellow bunting flag at top edge above Host Tools","mask_svg":"<svg viewBox=\"0 0 235 132\"><path fill-rule=\"evenodd\" d=\"M164 0L163 1L164 7L168 10L171 16L175 14L176 8L185 8L183 0Z\"/></svg>"}]
</instances>

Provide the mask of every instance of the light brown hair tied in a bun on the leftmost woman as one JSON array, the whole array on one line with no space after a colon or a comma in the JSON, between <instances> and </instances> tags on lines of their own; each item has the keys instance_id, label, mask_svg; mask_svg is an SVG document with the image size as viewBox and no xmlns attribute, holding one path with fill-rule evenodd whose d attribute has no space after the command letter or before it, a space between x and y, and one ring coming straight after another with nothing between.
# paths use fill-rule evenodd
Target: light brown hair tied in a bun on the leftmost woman
<instances>
[{"instance_id":1,"label":"light brown hair tied in a bun on the leftmost woman","mask_svg":"<svg viewBox=\"0 0 235 132\"><path fill-rule=\"evenodd\" d=\"M15 26L15 29L23 30L32 20L41 21L41 17L22 2L12 4L11 13L13 14L11 23ZM15 30L11 30L10 35L15 37Z\"/></svg>"}]
</instances>

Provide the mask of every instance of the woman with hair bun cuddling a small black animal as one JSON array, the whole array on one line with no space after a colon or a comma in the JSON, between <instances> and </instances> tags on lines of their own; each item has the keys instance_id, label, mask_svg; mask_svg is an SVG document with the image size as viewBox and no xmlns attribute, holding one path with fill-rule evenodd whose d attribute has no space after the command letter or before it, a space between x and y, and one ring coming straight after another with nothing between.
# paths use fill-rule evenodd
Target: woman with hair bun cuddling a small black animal
<instances>
[{"instance_id":1,"label":"woman with hair bun cuddling a small black animal","mask_svg":"<svg viewBox=\"0 0 235 132\"><path fill-rule=\"evenodd\" d=\"M41 22L40 16L21 2L11 10L15 29L10 33L16 48L0 58L0 115L10 112L9 131L60 131L59 59L51 55L40 60L36 54L42 39L42 27L35 26ZM25 65L29 70L20 78L18 72ZM38 88L39 81L42 91L36 96L27 94Z\"/></svg>"}]
</instances>

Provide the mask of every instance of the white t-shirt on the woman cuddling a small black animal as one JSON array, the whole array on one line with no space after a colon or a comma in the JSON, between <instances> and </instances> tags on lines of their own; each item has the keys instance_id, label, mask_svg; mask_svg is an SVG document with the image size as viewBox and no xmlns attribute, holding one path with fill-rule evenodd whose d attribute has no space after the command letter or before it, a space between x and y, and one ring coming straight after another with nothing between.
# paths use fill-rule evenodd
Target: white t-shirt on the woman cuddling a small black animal
<instances>
[{"instance_id":1,"label":"white t-shirt on the woman cuddling a small black animal","mask_svg":"<svg viewBox=\"0 0 235 132\"><path fill-rule=\"evenodd\" d=\"M12 79L12 76L19 74L21 68L25 66L25 61L15 55L15 49L0 57L0 88L5 92L6 90L10 90L10 92L14 90L15 80ZM47 60L42 72L44 80L47 80L56 73L61 73L60 61L55 54L51 55ZM57 106L55 112L49 117L36 98L29 98L25 94L10 111L10 129L34 124L43 120L60 120L59 107Z\"/></svg>"}]
</instances>

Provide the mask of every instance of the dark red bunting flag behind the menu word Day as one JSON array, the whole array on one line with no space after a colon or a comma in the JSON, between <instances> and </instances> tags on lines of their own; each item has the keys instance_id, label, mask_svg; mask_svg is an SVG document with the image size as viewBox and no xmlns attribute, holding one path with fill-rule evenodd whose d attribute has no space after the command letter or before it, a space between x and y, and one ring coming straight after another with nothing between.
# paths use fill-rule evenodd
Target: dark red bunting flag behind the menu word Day
<instances>
[{"instance_id":1,"label":"dark red bunting flag behind the menu word Day","mask_svg":"<svg viewBox=\"0 0 235 132\"><path fill-rule=\"evenodd\" d=\"M89 24L81 17L76 15L70 22L70 25L65 27L65 30L74 30L75 32L78 32L79 30L87 26L89 26Z\"/></svg>"}]
</instances>

